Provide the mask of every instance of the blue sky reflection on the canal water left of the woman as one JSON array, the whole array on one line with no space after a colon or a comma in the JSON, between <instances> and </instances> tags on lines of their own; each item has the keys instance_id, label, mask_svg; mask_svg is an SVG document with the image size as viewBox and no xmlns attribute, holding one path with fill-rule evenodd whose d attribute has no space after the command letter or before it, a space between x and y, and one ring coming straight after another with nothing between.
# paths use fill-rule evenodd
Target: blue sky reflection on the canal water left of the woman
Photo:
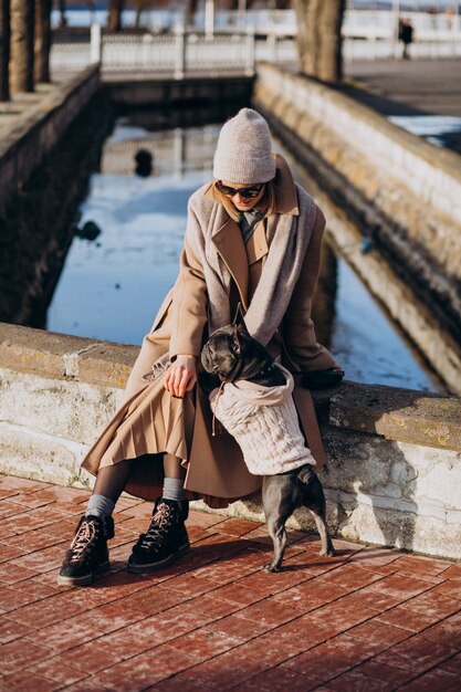
<instances>
[{"instance_id":1,"label":"blue sky reflection on the canal water left of the woman","mask_svg":"<svg viewBox=\"0 0 461 692\"><path fill-rule=\"evenodd\" d=\"M187 201L207 179L94 175L82 213L102 234L96 243L75 239L48 328L139 344L176 277Z\"/></svg>"}]
</instances>

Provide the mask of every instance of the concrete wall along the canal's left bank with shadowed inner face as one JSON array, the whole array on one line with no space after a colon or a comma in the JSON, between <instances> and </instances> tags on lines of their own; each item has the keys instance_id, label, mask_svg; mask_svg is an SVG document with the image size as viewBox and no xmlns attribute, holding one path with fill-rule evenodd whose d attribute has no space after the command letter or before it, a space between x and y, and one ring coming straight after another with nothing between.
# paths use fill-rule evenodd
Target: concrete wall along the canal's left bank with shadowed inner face
<instances>
[{"instance_id":1,"label":"concrete wall along the canal's left bank with shadowed inner face","mask_svg":"<svg viewBox=\"0 0 461 692\"><path fill-rule=\"evenodd\" d=\"M99 88L99 67L56 84L15 116L0 141L0 214ZM36 101L36 103L35 103Z\"/></svg>"}]
</instances>

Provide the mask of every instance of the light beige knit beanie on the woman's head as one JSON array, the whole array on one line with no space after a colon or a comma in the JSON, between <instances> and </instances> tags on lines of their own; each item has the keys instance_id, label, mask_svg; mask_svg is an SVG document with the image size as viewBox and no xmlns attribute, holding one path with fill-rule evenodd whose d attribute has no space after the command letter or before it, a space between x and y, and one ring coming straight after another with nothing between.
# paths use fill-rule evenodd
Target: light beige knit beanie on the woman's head
<instances>
[{"instance_id":1,"label":"light beige knit beanie on the woman's head","mask_svg":"<svg viewBox=\"0 0 461 692\"><path fill-rule=\"evenodd\" d=\"M265 119L242 108L219 134L213 176L226 182L268 182L275 176L271 135Z\"/></svg>"}]
</instances>

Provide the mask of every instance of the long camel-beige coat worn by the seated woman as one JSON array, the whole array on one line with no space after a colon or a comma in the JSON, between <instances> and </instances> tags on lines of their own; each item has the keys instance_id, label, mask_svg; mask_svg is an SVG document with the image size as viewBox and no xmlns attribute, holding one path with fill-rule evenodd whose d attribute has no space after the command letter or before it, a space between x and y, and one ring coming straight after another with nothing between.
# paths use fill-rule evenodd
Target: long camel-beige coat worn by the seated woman
<instances>
[{"instance_id":1,"label":"long camel-beige coat worn by the seated woman","mask_svg":"<svg viewBox=\"0 0 461 692\"><path fill-rule=\"evenodd\" d=\"M298 216L297 196L286 161L274 154L277 167L275 213ZM203 195L212 202L212 185ZM226 214L227 216L227 214ZM325 218L316 208L314 229L289 307L277 333L268 345L274 357L291 371L329 368L333 356L317 344L311 307L319 270ZM231 312L239 302L248 308L269 252L265 220L243 243L240 228L227 216L211 233L212 242L232 275ZM185 399L165 389L165 375L150 377L154 363L179 354L199 358L207 323L207 289L202 268L185 241L178 279L165 297L129 376L122 406L86 454L83 466L97 473L101 466L136 459L127 492L154 499L161 491L161 454L182 460L187 470L185 487L190 497L205 497L213 506L256 492L261 478L251 475L237 442L226 432L211 434L212 413L208 395L197 386ZM310 392L295 386L294 401L303 434L317 466L325 462Z\"/></svg>"}]
</instances>

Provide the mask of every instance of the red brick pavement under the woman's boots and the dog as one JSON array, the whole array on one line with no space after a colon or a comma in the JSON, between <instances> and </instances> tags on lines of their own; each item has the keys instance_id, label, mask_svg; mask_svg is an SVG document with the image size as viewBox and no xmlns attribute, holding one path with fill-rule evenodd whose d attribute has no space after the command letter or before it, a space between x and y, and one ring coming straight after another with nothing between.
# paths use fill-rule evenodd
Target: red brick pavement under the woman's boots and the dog
<instances>
[{"instance_id":1,"label":"red brick pavement under the woman's boots and the dog","mask_svg":"<svg viewBox=\"0 0 461 692\"><path fill-rule=\"evenodd\" d=\"M460 690L461 566L291 533L285 569L254 522L192 511L191 552L125 572L150 506L122 499L112 572L56 573L87 493L0 479L1 690L367 692Z\"/></svg>"}]
</instances>

